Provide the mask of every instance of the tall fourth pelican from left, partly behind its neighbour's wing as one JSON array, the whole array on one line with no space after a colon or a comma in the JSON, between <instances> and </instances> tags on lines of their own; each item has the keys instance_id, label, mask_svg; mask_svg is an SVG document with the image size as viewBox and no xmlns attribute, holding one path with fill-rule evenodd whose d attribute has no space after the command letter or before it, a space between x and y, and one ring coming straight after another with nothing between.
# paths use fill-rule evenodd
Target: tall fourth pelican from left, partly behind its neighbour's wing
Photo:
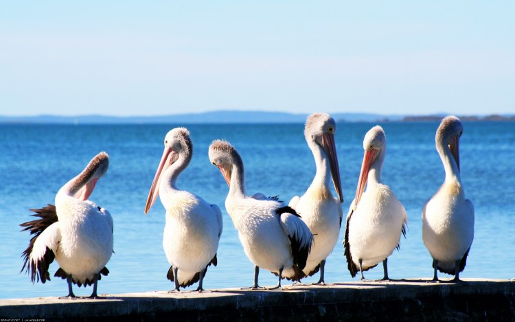
<instances>
[{"instance_id":1,"label":"tall fourth pelican from left, partly behind its neighbour's wing","mask_svg":"<svg viewBox=\"0 0 515 322\"><path fill-rule=\"evenodd\" d=\"M314 237L312 249L308 255L304 273L314 275L320 270L317 284L324 284L325 258L332 252L338 241L341 227L343 203L341 193L340 170L334 132L334 119L325 113L314 113L308 117L304 128L304 137L313 152L317 173L306 193L290 200L290 207L302 216ZM330 178L338 198L334 198L330 189Z\"/></svg>"}]
</instances>

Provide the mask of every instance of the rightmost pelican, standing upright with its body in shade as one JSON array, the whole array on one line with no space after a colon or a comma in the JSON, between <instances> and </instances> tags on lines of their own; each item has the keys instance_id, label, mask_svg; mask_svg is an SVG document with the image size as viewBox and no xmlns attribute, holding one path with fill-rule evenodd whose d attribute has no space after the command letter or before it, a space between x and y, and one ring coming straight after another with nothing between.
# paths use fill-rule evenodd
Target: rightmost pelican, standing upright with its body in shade
<instances>
[{"instance_id":1,"label":"rightmost pelican, standing upright with its body in shade","mask_svg":"<svg viewBox=\"0 0 515 322\"><path fill-rule=\"evenodd\" d=\"M455 275L463 271L468 251L474 240L474 206L465 198L459 175L459 138L463 125L455 116L448 116L436 131L436 150L444 163L445 181L422 209L422 240L433 257L437 269Z\"/></svg>"}]
</instances>

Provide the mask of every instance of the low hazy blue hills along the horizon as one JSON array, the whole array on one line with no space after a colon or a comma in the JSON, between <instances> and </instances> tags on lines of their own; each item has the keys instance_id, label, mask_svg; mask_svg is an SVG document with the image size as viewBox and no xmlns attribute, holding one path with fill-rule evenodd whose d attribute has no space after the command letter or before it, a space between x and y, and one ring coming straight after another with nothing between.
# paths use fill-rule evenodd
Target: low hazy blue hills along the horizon
<instances>
[{"instance_id":1,"label":"low hazy blue hills along the horizon","mask_svg":"<svg viewBox=\"0 0 515 322\"><path fill-rule=\"evenodd\" d=\"M331 113L336 122L439 122L445 115L381 115L367 113ZM58 116L38 115L30 117L0 116L3 124L273 124L304 123L308 114L260 111L214 111L162 116L116 117L104 115ZM515 115L459 116L468 122L508 121Z\"/></svg>"}]
</instances>

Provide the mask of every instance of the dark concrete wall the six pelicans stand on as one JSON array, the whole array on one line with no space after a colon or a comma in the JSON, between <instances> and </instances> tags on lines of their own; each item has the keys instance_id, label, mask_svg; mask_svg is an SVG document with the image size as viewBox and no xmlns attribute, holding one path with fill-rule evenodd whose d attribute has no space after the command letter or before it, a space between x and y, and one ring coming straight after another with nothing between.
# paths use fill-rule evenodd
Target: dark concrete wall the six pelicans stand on
<instances>
[{"instance_id":1,"label":"dark concrete wall the six pelicans stand on","mask_svg":"<svg viewBox=\"0 0 515 322\"><path fill-rule=\"evenodd\" d=\"M356 281L283 290L103 296L1 300L0 321L515 321L513 279Z\"/></svg>"}]
</instances>

